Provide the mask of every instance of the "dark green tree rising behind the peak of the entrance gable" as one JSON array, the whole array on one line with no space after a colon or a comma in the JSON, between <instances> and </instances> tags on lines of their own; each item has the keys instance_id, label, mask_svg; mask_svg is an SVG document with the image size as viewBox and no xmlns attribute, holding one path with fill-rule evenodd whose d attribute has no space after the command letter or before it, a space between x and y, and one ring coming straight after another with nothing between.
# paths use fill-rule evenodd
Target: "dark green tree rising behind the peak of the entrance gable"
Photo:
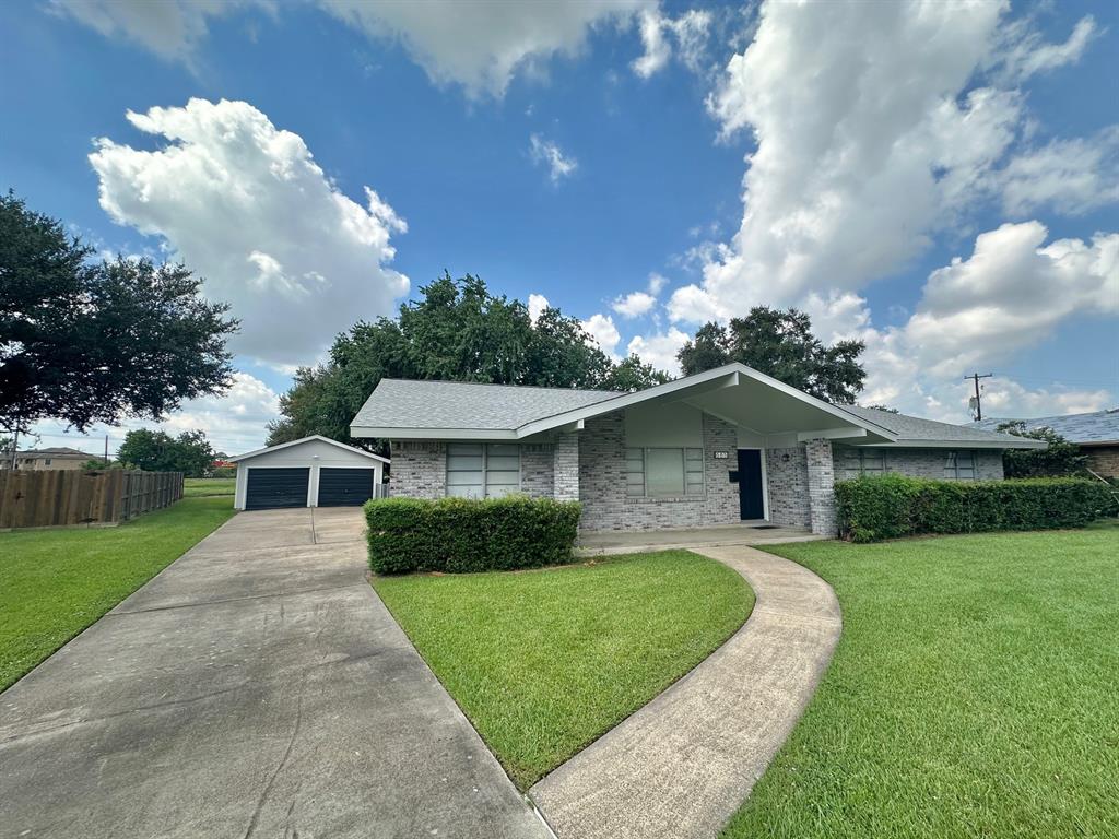
<instances>
[{"instance_id":1,"label":"dark green tree rising behind the peak of the entrance gable","mask_svg":"<svg viewBox=\"0 0 1119 839\"><path fill-rule=\"evenodd\" d=\"M858 362L864 349L862 341L827 347L812 334L807 313L759 305L725 327L705 324L677 358L687 376L739 361L820 399L850 405L866 378Z\"/></svg>"}]
</instances>

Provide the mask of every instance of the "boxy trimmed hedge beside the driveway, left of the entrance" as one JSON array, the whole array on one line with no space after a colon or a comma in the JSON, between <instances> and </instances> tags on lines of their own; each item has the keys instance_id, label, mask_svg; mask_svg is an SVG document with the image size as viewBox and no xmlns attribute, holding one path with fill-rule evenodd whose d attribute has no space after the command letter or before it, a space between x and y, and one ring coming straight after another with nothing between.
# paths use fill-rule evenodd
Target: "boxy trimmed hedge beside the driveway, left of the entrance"
<instances>
[{"instance_id":1,"label":"boxy trimmed hedge beside the driveway, left of the entrance","mask_svg":"<svg viewBox=\"0 0 1119 839\"><path fill-rule=\"evenodd\" d=\"M577 501L525 496L374 499L365 505L369 567L466 574L570 563L581 512Z\"/></svg>"}]
</instances>

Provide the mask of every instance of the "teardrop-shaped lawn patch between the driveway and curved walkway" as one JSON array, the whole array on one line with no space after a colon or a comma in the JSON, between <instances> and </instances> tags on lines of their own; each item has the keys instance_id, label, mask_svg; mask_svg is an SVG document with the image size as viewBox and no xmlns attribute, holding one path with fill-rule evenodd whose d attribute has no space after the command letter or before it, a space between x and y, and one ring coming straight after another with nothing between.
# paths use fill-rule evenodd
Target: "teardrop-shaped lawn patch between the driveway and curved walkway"
<instances>
[{"instance_id":1,"label":"teardrop-shaped lawn patch between the driveway and curved walkway","mask_svg":"<svg viewBox=\"0 0 1119 839\"><path fill-rule=\"evenodd\" d=\"M521 790L703 661L753 605L739 574L683 550L373 584Z\"/></svg>"}]
</instances>

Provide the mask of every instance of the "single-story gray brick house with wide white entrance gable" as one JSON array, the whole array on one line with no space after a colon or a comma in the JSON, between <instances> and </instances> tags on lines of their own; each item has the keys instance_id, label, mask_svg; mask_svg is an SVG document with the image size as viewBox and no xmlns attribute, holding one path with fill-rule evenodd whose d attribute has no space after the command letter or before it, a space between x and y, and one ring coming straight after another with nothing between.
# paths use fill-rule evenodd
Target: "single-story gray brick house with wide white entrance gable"
<instances>
[{"instance_id":1,"label":"single-story gray brick house with wide white entrance gable","mask_svg":"<svg viewBox=\"0 0 1119 839\"><path fill-rule=\"evenodd\" d=\"M633 394L382 379L350 434L392 446L391 494L583 502L581 528L769 521L836 532L836 479L1000 479L1008 434L830 405L732 364Z\"/></svg>"}]
</instances>

